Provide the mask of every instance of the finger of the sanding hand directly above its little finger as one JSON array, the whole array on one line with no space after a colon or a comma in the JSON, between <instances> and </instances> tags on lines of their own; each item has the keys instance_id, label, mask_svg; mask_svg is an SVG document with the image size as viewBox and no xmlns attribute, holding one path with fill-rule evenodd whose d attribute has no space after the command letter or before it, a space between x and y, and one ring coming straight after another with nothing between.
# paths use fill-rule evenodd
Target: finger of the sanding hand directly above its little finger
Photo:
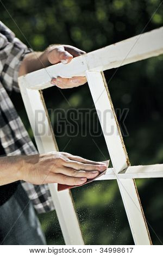
<instances>
[{"instance_id":1,"label":"finger of the sanding hand directly above its little finger","mask_svg":"<svg viewBox=\"0 0 163 256\"><path fill-rule=\"evenodd\" d=\"M92 172L86 172L85 170L76 170L73 168L62 167L55 170L55 173L60 173L60 174L64 174L64 175L76 177L76 178L85 177L87 179L93 179L99 174L99 171L93 170Z\"/></svg>"}]
</instances>

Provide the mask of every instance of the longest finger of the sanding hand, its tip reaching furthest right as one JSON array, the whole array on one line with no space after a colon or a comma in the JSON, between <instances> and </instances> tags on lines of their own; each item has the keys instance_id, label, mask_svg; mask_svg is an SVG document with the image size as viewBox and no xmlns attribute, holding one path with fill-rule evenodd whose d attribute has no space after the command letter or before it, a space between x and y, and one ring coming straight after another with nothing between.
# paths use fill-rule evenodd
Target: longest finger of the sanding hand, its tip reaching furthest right
<instances>
[{"instance_id":1,"label":"longest finger of the sanding hand, its tip reaching furthest right","mask_svg":"<svg viewBox=\"0 0 163 256\"><path fill-rule=\"evenodd\" d=\"M106 165L102 164L102 165L97 165L97 164L85 164L82 162L77 162L77 161L65 161L63 163L63 166L65 167L69 167L69 168L73 168L76 170L87 170L87 171L99 171L99 172L103 172L104 170L106 170Z\"/></svg>"}]
</instances>

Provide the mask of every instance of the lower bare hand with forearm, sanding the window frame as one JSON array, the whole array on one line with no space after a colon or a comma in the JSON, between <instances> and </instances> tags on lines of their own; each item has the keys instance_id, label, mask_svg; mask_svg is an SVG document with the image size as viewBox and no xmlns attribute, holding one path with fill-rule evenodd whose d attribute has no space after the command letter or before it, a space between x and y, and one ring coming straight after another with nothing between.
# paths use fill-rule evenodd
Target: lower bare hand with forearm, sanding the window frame
<instances>
[{"instance_id":1,"label":"lower bare hand with forearm, sanding the window frame","mask_svg":"<svg viewBox=\"0 0 163 256\"><path fill-rule=\"evenodd\" d=\"M93 162L64 152L0 157L0 166L0 186L17 180L36 185L60 183L77 186L107 168L103 162Z\"/></svg>"}]
</instances>

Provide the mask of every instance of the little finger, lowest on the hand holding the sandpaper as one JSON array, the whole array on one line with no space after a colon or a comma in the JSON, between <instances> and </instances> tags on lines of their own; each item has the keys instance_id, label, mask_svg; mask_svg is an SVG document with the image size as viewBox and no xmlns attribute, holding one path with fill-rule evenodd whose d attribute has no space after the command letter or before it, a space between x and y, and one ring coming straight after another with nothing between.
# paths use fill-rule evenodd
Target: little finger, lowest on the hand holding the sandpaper
<instances>
[{"instance_id":1,"label":"little finger, lowest on the hand holding the sandpaper","mask_svg":"<svg viewBox=\"0 0 163 256\"><path fill-rule=\"evenodd\" d=\"M86 178L76 178L76 177L71 177L64 174L49 173L46 179L46 182L59 183L59 184L70 185L70 186L78 186L78 185L84 184L86 180L87 180Z\"/></svg>"}]
</instances>

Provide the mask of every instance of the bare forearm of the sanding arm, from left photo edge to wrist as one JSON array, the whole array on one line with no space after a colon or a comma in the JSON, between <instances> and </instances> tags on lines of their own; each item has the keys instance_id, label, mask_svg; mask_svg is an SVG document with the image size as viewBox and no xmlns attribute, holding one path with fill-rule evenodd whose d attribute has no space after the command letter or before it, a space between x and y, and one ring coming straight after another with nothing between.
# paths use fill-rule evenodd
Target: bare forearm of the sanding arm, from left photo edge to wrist
<instances>
[{"instance_id":1,"label":"bare forearm of the sanding arm, from left photo edge to wrist","mask_svg":"<svg viewBox=\"0 0 163 256\"><path fill-rule=\"evenodd\" d=\"M0 157L0 186L20 180L21 165L20 156Z\"/></svg>"}]
</instances>

